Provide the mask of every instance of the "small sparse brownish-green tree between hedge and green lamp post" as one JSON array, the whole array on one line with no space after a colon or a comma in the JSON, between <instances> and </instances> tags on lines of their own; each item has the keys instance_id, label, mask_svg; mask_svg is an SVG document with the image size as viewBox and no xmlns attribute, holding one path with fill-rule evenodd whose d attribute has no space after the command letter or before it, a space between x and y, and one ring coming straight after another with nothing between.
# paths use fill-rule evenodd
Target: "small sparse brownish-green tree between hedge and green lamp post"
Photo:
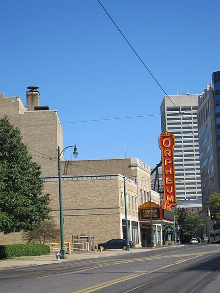
<instances>
[{"instance_id":1,"label":"small sparse brownish-green tree between hedge and green lamp post","mask_svg":"<svg viewBox=\"0 0 220 293\"><path fill-rule=\"evenodd\" d=\"M60 240L60 229L52 220L44 220L36 230L22 233L22 239L27 243L45 243Z\"/></svg>"}]
</instances>

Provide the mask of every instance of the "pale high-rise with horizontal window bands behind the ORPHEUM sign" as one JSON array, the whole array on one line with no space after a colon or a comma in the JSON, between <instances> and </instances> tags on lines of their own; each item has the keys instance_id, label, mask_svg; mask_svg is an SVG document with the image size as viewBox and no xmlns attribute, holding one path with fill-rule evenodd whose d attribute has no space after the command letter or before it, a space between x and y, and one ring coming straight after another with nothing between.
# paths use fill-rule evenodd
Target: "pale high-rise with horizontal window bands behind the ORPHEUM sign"
<instances>
[{"instance_id":1,"label":"pale high-rise with horizontal window bands behind the ORPHEUM sign","mask_svg":"<svg viewBox=\"0 0 220 293\"><path fill-rule=\"evenodd\" d=\"M174 162L177 206L186 210L202 208L198 147L199 95L165 96L160 106L161 130L175 135Z\"/></svg>"}]
</instances>

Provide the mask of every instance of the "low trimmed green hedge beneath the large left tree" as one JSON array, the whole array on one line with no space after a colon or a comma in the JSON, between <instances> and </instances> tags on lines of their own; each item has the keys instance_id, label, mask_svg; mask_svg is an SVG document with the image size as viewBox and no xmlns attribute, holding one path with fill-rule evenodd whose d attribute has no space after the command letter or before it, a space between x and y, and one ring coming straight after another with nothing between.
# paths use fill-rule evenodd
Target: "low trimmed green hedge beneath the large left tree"
<instances>
[{"instance_id":1,"label":"low trimmed green hedge beneath the large left tree","mask_svg":"<svg viewBox=\"0 0 220 293\"><path fill-rule=\"evenodd\" d=\"M45 244L9 244L0 245L0 259L19 257L19 256L37 256L50 253L50 247Z\"/></svg>"}]
</instances>

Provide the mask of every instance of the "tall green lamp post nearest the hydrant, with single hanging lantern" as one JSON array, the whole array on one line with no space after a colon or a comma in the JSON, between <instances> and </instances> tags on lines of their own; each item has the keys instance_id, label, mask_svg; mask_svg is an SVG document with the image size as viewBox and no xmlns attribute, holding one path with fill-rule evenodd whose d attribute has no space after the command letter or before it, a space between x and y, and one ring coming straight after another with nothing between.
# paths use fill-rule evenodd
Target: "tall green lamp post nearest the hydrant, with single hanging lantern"
<instances>
[{"instance_id":1,"label":"tall green lamp post nearest the hydrant, with single hanging lantern","mask_svg":"<svg viewBox=\"0 0 220 293\"><path fill-rule=\"evenodd\" d=\"M58 146L58 177L59 177L59 201L60 201L60 238L61 238L61 249L60 253L61 259L66 258L66 250L65 250L65 243L64 243L64 217L63 217L63 197L62 197L62 177L61 177L61 154L66 150L68 147L74 147L73 155L76 158L78 156L78 151L76 146L66 146L62 151L60 151L60 146Z\"/></svg>"}]
</instances>

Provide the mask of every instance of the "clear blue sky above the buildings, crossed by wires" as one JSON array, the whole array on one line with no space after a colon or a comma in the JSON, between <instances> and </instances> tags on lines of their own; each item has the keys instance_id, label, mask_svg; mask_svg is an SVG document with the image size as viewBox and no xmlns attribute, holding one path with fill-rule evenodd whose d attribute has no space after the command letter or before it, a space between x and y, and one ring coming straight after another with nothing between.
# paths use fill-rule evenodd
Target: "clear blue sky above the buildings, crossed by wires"
<instances>
[{"instance_id":1,"label":"clear blue sky above the buildings, crossed by wires","mask_svg":"<svg viewBox=\"0 0 220 293\"><path fill-rule=\"evenodd\" d=\"M168 95L200 94L220 70L218 0L100 0ZM0 1L0 92L39 86L77 159L160 161L164 93L97 0ZM130 119L102 120L131 116ZM70 159L70 154L67 154Z\"/></svg>"}]
</instances>

